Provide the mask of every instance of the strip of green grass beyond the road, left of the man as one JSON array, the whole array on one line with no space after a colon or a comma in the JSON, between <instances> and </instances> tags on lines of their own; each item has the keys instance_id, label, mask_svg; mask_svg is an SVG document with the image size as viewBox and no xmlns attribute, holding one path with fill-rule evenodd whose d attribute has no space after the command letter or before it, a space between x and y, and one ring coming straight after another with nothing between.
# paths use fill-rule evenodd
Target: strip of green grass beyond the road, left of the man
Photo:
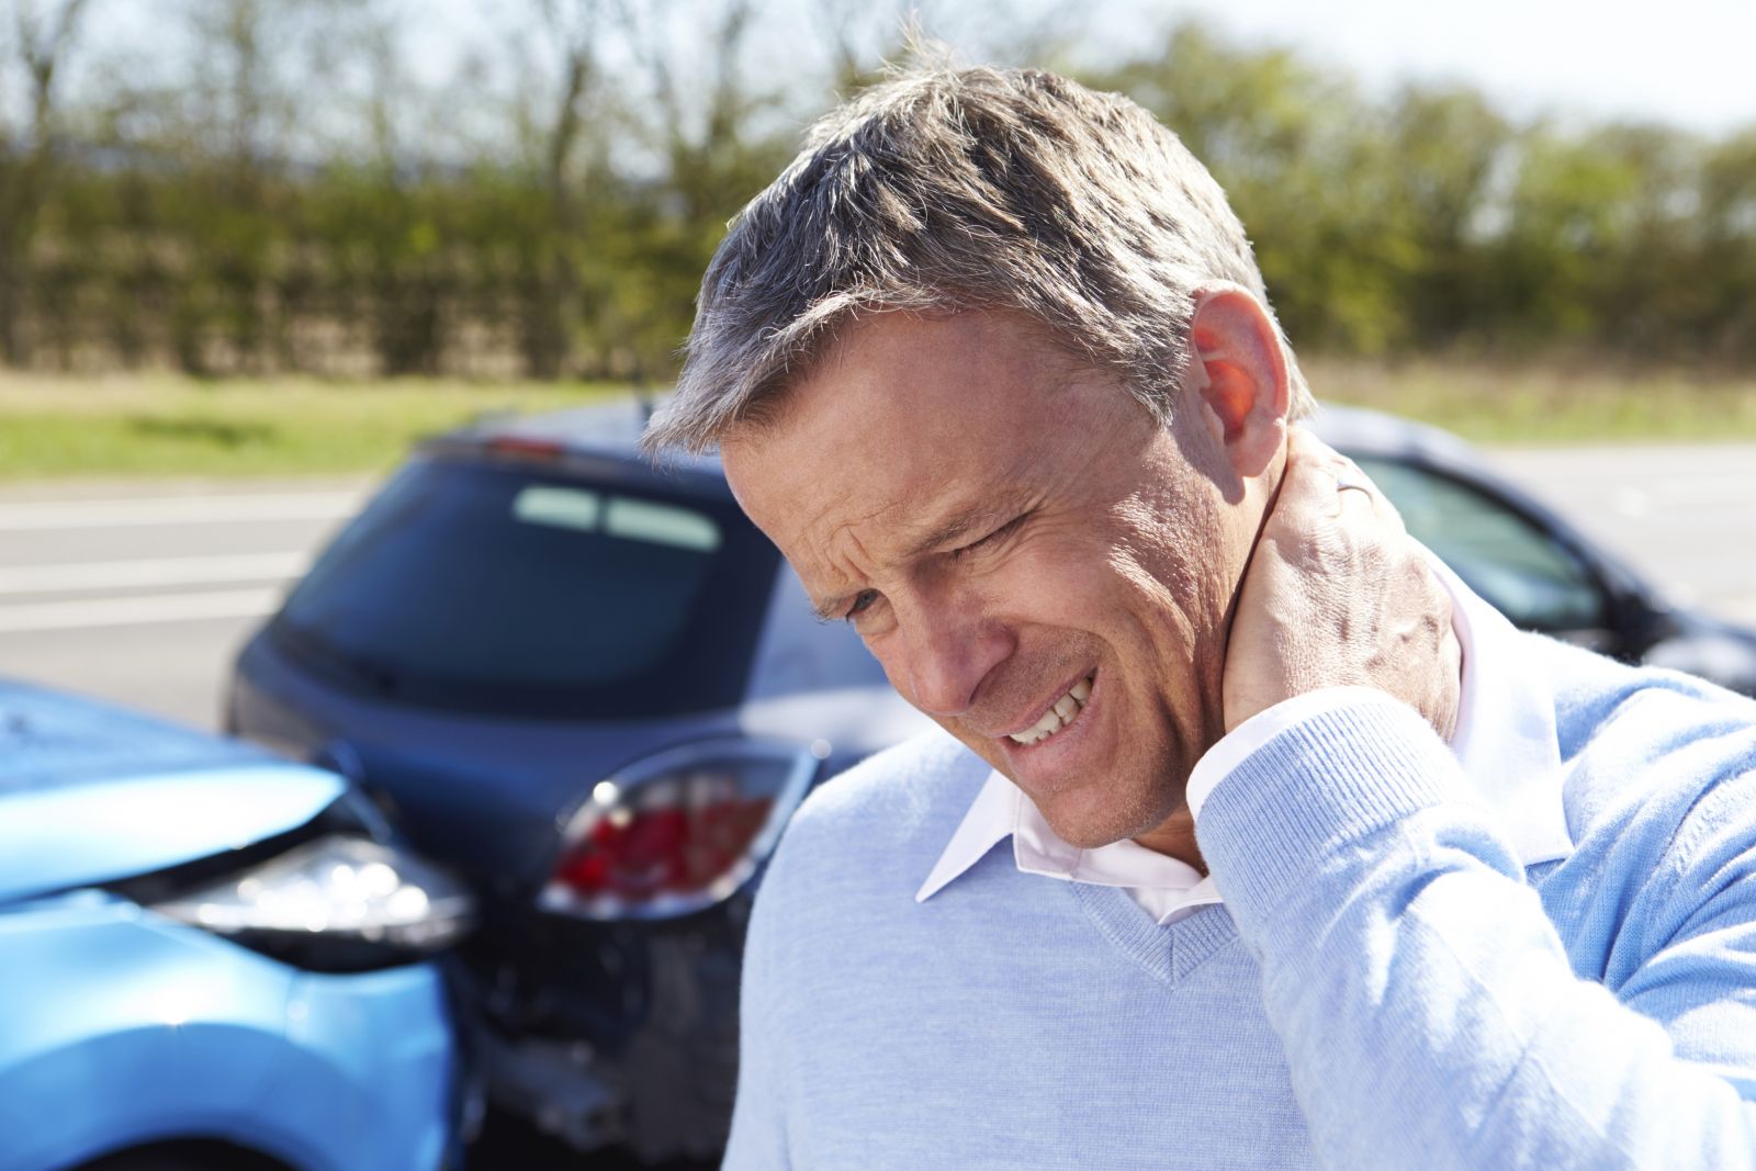
<instances>
[{"instance_id":1,"label":"strip of green grass beyond the road, left of the man","mask_svg":"<svg viewBox=\"0 0 1756 1171\"><path fill-rule=\"evenodd\" d=\"M0 479L381 472L485 413L629 393L611 384L328 383L0 374Z\"/></svg>"}]
</instances>

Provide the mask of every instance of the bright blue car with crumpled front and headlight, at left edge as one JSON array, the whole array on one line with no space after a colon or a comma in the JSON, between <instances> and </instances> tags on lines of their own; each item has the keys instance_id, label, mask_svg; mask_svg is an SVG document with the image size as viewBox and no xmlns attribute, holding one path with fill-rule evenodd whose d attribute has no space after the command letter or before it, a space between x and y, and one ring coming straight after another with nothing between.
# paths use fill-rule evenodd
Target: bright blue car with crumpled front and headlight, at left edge
<instances>
[{"instance_id":1,"label":"bright blue car with crumpled front and headlight, at left edge","mask_svg":"<svg viewBox=\"0 0 1756 1171\"><path fill-rule=\"evenodd\" d=\"M471 916L334 772L0 681L0 1167L448 1166Z\"/></svg>"}]
</instances>

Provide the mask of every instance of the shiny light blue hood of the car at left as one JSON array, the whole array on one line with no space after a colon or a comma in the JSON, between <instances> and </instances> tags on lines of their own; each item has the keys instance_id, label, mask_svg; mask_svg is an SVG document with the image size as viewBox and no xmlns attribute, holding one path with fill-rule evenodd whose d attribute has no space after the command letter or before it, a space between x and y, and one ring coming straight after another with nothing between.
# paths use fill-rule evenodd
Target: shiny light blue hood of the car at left
<instances>
[{"instance_id":1,"label":"shiny light blue hood of the car at left","mask_svg":"<svg viewBox=\"0 0 1756 1171\"><path fill-rule=\"evenodd\" d=\"M344 781L119 708L0 681L0 901L239 850Z\"/></svg>"}]
</instances>

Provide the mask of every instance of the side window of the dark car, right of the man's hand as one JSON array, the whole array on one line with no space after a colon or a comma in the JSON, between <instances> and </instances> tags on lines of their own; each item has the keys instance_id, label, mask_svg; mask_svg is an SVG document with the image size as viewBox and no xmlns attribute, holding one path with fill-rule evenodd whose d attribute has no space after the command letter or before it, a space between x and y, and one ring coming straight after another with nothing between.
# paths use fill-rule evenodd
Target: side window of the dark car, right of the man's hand
<instances>
[{"instance_id":1,"label":"side window of the dark car, right of the man's hand","mask_svg":"<svg viewBox=\"0 0 1756 1171\"><path fill-rule=\"evenodd\" d=\"M1403 514L1408 532L1514 625L1589 630L1605 623L1603 592L1572 550L1472 485L1400 460L1354 456Z\"/></svg>"}]
</instances>

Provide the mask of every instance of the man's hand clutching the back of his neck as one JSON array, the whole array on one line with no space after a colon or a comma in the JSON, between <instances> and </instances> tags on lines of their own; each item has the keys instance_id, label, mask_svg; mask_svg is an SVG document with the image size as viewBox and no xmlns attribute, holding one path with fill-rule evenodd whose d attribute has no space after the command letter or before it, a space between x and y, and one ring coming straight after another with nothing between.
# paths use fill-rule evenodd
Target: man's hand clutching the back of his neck
<instances>
[{"instance_id":1,"label":"man's hand clutching the back of his neck","mask_svg":"<svg viewBox=\"0 0 1756 1171\"><path fill-rule=\"evenodd\" d=\"M1461 664L1450 597L1401 516L1352 460L1294 427L1233 614L1226 730L1305 692L1364 685L1450 739Z\"/></svg>"}]
</instances>

